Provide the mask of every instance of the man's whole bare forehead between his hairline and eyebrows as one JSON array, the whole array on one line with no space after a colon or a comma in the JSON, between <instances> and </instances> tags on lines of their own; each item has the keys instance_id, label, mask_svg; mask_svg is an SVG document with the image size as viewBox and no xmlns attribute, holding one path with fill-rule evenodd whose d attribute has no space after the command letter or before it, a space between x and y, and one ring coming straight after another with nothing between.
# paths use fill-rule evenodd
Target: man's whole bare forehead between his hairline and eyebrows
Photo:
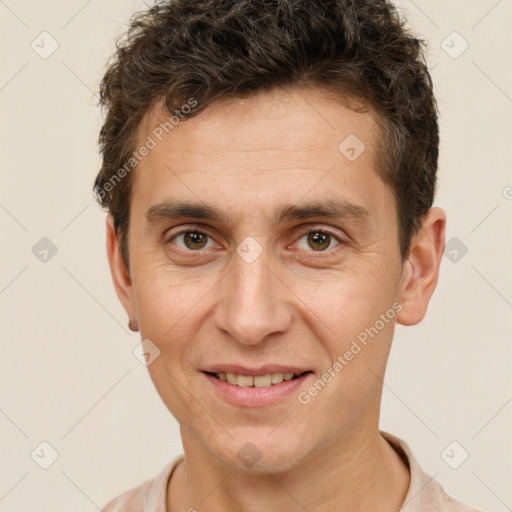
<instances>
[{"instance_id":1,"label":"man's whole bare forehead between his hairline and eyebrows","mask_svg":"<svg viewBox=\"0 0 512 512\"><path fill-rule=\"evenodd\" d=\"M187 196L236 221L237 213L262 214L305 195L352 194L350 202L364 208L384 200L375 114L354 111L329 91L277 89L169 119L160 103L138 129L139 145L155 142L133 173L132 197L146 209Z\"/></svg>"}]
</instances>

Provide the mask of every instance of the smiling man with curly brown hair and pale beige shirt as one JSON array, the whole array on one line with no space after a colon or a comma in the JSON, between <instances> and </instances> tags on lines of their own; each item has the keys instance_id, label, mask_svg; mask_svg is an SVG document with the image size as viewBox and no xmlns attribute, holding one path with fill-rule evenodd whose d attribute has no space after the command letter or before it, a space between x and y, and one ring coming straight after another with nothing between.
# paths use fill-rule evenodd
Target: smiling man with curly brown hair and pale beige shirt
<instances>
[{"instance_id":1,"label":"smiling man with curly brown hair and pale beige shirt","mask_svg":"<svg viewBox=\"0 0 512 512\"><path fill-rule=\"evenodd\" d=\"M104 510L474 510L379 431L445 234L432 84L394 7L161 2L101 101L114 285L184 448Z\"/></svg>"}]
</instances>

